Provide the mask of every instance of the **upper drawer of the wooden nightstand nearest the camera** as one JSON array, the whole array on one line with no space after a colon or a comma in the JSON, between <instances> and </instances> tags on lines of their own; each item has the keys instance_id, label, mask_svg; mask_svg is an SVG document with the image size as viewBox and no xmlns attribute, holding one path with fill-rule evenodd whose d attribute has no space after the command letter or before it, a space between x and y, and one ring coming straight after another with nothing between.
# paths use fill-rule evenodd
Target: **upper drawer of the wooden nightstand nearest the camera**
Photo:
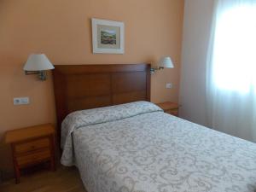
<instances>
[{"instance_id":1,"label":"upper drawer of the wooden nightstand nearest the camera","mask_svg":"<svg viewBox=\"0 0 256 192\"><path fill-rule=\"evenodd\" d=\"M49 148L49 138L33 140L31 142L15 144L15 154L22 154L37 150L39 148Z\"/></svg>"}]
</instances>

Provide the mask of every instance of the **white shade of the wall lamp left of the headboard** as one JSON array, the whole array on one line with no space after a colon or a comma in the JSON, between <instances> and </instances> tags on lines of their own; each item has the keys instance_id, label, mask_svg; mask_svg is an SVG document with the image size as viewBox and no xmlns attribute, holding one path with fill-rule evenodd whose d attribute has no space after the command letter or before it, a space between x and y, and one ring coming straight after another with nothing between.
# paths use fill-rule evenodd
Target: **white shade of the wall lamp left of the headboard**
<instances>
[{"instance_id":1,"label":"white shade of the wall lamp left of the headboard","mask_svg":"<svg viewBox=\"0 0 256 192\"><path fill-rule=\"evenodd\" d=\"M23 67L25 71L45 71L54 68L55 67L44 54L29 55L26 64Z\"/></svg>"}]
</instances>

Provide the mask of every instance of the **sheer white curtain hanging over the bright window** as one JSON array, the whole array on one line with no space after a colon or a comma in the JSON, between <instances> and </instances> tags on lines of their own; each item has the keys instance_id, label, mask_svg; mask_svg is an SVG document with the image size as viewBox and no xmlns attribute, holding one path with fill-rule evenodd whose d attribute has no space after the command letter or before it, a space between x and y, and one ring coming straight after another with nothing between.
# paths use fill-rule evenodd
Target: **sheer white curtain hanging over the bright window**
<instances>
[{"instance_id":1,"label":"sheer white curtain hanging over the bright window","mask_svg":"<svg viewBox=\"0 0 256 192\"><path fill-rule=\"evenodd\" d=\"M207 122L256 142L256 0L216 0L207 55Z\"/></svg>"}]
</instances>

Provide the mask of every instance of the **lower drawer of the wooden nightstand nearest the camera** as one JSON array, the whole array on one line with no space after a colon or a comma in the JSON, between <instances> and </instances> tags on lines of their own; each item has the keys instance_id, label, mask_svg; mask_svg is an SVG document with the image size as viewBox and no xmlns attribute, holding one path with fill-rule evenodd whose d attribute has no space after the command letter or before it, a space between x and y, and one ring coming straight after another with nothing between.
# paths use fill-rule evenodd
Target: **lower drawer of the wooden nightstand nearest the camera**
<instances>
[{"instance_id":1,"label":"lower drawer of the wooden nightstand nearest the camera","mask_svg":"<svg viewBox=\"0 0 256 192\"><path fill-rule=\"evenodd\" d=\"M22 155L17 157L17 164L21 166L36 164L43 160L49 160L50 151L49 148L44 149L43 151L33 152L32 154Z\"/></svg>"}]
</instances>

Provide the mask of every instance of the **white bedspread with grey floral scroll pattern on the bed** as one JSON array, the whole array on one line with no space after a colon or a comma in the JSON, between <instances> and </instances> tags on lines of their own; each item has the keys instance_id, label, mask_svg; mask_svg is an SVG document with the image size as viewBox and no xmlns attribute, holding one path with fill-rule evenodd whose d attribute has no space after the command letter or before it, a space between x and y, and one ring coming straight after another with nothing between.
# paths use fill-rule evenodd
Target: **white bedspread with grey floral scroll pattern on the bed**
<instances>
[{"instance_id":1,"label":"white bedspread with grey floral scroll pattern on the bed","mask_svg":"<svg viewBox=\"0 0 256 192\"><path fill-rule=\"evenodd\" d=\"M61 163L78 166L88 192L256 191L255 143L149 102L94 110L68 116L62 134Z\"/></svg>"}]
</instances>

